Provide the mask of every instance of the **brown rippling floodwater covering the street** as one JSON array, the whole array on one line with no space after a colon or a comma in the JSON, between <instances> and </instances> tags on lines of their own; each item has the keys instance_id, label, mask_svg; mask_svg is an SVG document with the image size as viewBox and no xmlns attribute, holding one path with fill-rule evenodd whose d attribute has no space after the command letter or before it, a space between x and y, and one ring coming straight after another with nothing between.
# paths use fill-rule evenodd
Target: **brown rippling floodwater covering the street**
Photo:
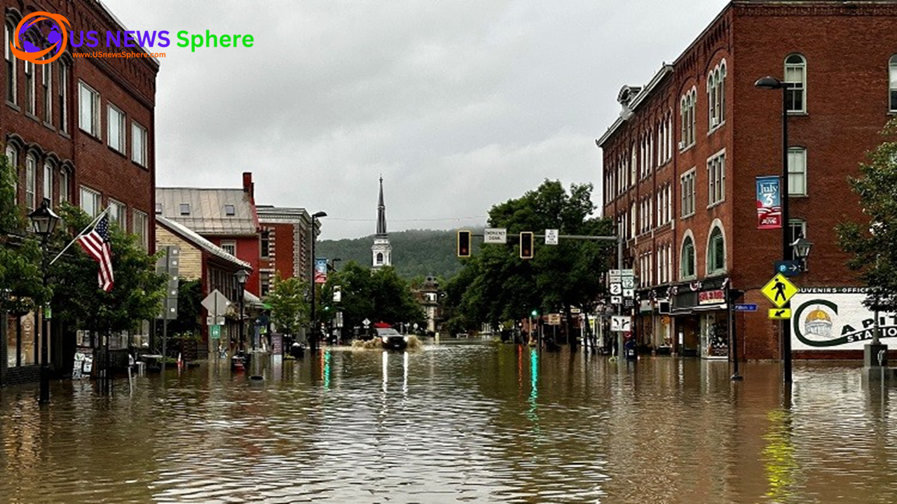
<instances>
[{"instance_id":1,"label":"brown rippling floodwater covering the street","mask_svg":"<svg viewBox=\"0 0 897 504\"><path fill-rule=\"evenodd\" d=\"M893 502L894 390L858 363L515 345L326 349L0 390L4 502Z\"/></svg>"}]
</instances>

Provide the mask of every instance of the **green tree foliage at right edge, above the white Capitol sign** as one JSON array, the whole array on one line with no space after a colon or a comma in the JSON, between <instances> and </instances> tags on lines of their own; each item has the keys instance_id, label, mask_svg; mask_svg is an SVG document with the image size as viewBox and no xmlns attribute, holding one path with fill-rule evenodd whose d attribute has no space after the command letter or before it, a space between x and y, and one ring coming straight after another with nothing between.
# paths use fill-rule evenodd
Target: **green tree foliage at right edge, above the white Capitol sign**
<instances>
[{"instance_id":1,"label":"green tree foliage at right edge, above the white Capitol sign","mask_svg":"<svg viewBox=\"0 0 897 504\"><path fill-rule=\"evenodd\" d=\"M865 222L842 222L840 248L852 255L850 269L870 288L868 308L897 311L897 119L882 131L884 143L868 153L859 178L849 178L859 196Z\"/></svg>"}]
</instances>

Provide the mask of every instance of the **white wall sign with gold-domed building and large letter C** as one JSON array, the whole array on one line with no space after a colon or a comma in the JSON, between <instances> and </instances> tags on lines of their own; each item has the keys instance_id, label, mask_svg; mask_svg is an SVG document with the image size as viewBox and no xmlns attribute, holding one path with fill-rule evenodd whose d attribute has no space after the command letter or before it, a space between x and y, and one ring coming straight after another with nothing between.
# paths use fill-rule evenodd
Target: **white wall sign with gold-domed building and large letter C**
<instances>
[{"instance_id":1,"label":"white wall sign with gold-domed building and large letter C","mask_svg":"<svg viewBox=\"0 0 897 504\"><path fill-rule=\"evenodd\" d=\"M875 330L866 296L856 287L801 289L791 298L792 350L863 350ZM897 314L879 312L878 330L882 340L897 340Z\"/></svg>"}]
</instances>

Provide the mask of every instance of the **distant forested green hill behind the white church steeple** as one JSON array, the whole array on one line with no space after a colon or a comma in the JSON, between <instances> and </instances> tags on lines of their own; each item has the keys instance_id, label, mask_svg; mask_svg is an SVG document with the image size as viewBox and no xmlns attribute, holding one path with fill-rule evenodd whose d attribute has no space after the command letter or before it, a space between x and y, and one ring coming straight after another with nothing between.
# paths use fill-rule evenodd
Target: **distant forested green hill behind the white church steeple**
<instances>
[{"instance_id":1,"label":"distant forested green hill behind the white church steeple","mask_svg":"<svg viewBox=\"0 0 897 504\"><path fill-rule=\"evenodd\" d=\"M482 230L475 232L482 233ZM391 231L389 244L393 248L392 263L396 273L404 278L418 275L451 278L461 270L456 240L455 230ZM339 257L342 261L336 263L337 269L350 260L370 266L370 246L373 244L373 235L357 239L322 239L315 246L315 255L327 259Z\"/></svg>"}]
</instances>

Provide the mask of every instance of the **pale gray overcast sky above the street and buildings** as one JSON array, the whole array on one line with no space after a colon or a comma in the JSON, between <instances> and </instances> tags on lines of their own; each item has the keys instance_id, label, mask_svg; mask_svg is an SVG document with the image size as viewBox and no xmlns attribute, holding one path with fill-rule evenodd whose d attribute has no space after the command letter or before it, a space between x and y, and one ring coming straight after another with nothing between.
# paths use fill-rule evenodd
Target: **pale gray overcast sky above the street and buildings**
<instances>
[{"instance_id":1,"label":"pale gray overcast sky above the street and buildings","mask_svg":"<svg viewBox=\"0 0 897 504\"><path fill-rule=\"evenodd\" d=\"M595 185L623 84L679 56L726 0L103 0L170 30L156 92L161 187L239 187L324 211L321 239L483 225L544 178ZM252 48L174 47L188 30Z\"/></svg>"}]
</instances>

